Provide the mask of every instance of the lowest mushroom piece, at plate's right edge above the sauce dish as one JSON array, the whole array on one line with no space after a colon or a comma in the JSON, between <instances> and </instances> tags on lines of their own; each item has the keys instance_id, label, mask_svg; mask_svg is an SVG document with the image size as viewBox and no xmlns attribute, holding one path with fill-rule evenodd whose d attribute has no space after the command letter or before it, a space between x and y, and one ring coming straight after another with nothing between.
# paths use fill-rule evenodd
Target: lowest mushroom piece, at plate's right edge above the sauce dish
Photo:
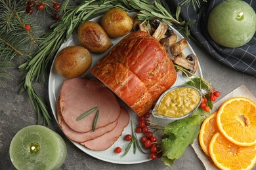
<instances>
[{"instance_id":1,"label":"lowest mushroom piece, at plate's right edge above the sauce dish","mask_svg":"<svg viewBox=\"0 0 256 170\"><path fill-rule=\"evenodd\" d=\"M196 73L196 69L198 68L198 59L194 54L189 54L186 58L177 56L173 60L173 63L189 71L191 74L189 73L188 76L192 76L194 73Z\"/></svg>"}]
</instances>

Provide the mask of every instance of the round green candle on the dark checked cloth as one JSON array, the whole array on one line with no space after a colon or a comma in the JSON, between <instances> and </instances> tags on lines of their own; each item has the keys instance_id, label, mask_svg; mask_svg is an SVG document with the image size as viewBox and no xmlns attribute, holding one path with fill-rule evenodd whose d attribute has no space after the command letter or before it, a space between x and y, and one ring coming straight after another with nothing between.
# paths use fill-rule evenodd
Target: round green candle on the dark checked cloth
<instances>
[{"instance_id":1,"label":"round green candle on the dark checked cloth","mask_svg":"<svg viewBox=\"0 0 256 170\"><path fill-rule=\"evenodd\" d=\"M241 0L227 0L211 10L207 29L217 44L236 48L249 42L256 31L256 14Z\"/></svg>"}]
</instances>

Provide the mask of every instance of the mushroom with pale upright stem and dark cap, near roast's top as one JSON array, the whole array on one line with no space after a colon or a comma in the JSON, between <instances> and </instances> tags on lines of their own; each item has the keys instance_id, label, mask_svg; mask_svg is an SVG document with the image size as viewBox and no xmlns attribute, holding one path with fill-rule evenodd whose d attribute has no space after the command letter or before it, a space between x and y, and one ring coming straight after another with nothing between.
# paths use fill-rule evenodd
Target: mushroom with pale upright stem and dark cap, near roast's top
<instances>
[{"instance_id":1,"label":"mushroom with pale upright stem and dark cap, near roast's top","mask_svg":"<svg viewBox=\"0 0 256 170\"><path fill-rule=\"evenodd\" d=\"M152 37L155 37L158 41L173 34L173 29L159 18L153 18L150 25L152 29L155 29Z\"/></svg>"}]
</instances>

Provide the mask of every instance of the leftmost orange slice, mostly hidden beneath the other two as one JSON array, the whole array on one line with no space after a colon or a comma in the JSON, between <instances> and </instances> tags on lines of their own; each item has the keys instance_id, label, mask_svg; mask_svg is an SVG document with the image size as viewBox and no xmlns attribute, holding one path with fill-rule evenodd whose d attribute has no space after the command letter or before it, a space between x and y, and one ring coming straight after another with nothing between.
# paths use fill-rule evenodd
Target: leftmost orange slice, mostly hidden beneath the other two
<instances>
[{"instance_id":1,"label":"leftmost orange slice, mostly hidden beneath the other two","mask_svg":"<svg viewBox=\"0 0 256 170\"><path fill-rule=\"evenodd\" d=\"M205 118L200 128L199 143L203 152L205 152L207 156L210 156L208 147L211 137L213 137L213 135L218 131L216 115L217 112L213 112L209 117Z\"/></svg>"}]
</instances>

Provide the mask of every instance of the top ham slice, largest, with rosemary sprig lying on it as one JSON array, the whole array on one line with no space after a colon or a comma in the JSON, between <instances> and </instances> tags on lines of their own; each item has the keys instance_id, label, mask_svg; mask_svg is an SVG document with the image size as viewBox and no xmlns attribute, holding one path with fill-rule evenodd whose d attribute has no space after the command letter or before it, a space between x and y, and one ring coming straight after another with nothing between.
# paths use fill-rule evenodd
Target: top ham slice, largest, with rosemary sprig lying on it
<instances>
[{"instance_id":1,"label":"top ham slice, largest, with rosemary sprig lying on it","mask_svg":"<svg viewBox=\"0 0 256 170\"><path fill-rule=\"evenodd\" d=\"M67 126L79 133L93 130L96 110L81 120L77 118L94 107L99 110L96 129L112 124L120 115L120 105L111 90L98 80L80 77L64 82L57 107Z\"/></svg>"}]
</instances>

